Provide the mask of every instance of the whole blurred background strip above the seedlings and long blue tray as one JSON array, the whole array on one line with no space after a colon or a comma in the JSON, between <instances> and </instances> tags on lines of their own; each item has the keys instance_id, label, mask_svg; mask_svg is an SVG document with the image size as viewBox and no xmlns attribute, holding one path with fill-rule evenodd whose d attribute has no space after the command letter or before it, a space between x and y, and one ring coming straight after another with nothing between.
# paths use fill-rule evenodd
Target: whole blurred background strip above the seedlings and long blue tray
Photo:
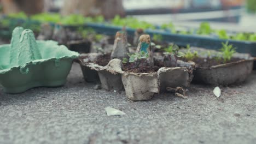
<instances>
[{"instance_id":1,"label":"whole blurred background strip above the seedlings and long blue tray","mask_svg":"<svg viewBox=\"0 0 256 144\"><path fill-rule=\"evenodd\" d=\"M133 16L154 24L198 27L209 21L216 29L256 31L256 0L0 0L2 14L27 15L55 12L61 15Z\"/></svg>"}]
</instances>

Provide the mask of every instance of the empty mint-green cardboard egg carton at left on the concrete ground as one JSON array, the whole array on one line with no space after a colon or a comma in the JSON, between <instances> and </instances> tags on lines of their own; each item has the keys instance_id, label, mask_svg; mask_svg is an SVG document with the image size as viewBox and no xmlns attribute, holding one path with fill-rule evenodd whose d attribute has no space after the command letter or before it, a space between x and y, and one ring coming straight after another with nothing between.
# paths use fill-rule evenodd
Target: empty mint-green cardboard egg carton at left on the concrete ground
<instances>
[{"instance_id":1,"label":"empty mint-green cardboard egg carton at left on the concrete ground","mask_svg":"<svg viewBox=\"0 0 256 144\"><path fill-rule=\"evenodd\" d=\"M30 29L16 27L11 44L0 46L0 84L13 94L33 87L63 86L78 56L56 41L37 41Z\"/></svg>"}]
</instances>

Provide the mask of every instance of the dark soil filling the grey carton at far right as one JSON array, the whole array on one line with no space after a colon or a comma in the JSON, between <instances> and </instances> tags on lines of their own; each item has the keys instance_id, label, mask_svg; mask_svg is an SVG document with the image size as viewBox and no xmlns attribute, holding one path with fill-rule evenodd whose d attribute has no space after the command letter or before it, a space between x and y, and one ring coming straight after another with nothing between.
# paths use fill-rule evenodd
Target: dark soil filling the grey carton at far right
<instances>
[{"instance_id":1,"label":"dark soil filling the grey carton at far right","mask_svg":"<svg viewBox=\"0 0 256 144\"><path fill-rule=\"evenodd\" d=\"M186 58L180 58L182 61L184 62L188 62L188 60ZM242 59L240 58L231 58L230 61L225 62L225 63L231 63L231 62L237 62L237 61L241 61ZM223 59L217 60L217 59L210 59L210 58L194 58L192 59L193 62L196 63L196 65L198 67L201 68L210 68L214 65L219 65L219 64L225 64Z\"/></svg>"}]
</instances>

